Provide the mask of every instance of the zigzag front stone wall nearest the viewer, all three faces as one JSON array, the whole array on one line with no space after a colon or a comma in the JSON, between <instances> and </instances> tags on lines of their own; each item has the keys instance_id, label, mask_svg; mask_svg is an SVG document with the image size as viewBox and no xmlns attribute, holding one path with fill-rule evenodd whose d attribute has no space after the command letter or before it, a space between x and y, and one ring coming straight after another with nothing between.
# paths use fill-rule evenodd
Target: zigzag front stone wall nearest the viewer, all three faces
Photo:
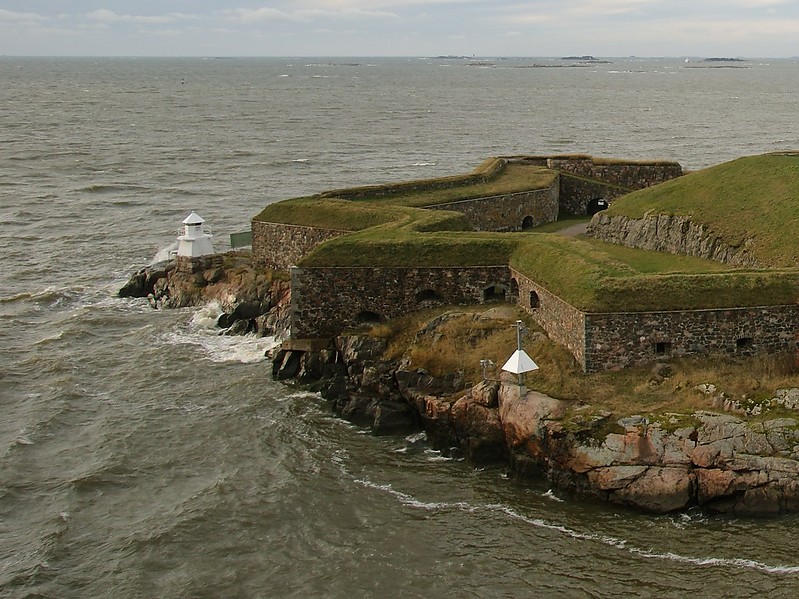
<instances>
[{"instance_id":1,"label":"zigzag front stone wall nearest the viewer, all three faces","mask_svg":"<svg viewBox=\"0 0 799 599\"><path fill-rule=\"evenodd\" d=\"M658 357L753 355L796 347L799 305L584 313L518 271L486 267L291 269L292 338L332 337L435 304L516 302L586 372Z\"/></svg>"}]
</instances>

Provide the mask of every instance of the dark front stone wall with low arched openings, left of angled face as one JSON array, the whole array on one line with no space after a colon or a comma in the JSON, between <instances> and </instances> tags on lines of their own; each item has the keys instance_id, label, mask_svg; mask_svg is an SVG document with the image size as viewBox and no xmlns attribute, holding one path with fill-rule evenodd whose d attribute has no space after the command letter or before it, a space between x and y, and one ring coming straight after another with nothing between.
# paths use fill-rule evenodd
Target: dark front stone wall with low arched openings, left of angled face
<instances>
[{"instance_id":1,"label":"dark front stone wall with low arched openings, left of angled face","mask_svg":"<svg viewBox=\"0 0 799 599\"><path fill-rule=\"evenodd\" d=\"M291 336L332 337L342 330L433 304L477 304L510 291L507 266L460 268L335 267L291 269Z\"/></svg>"}]
</instances>

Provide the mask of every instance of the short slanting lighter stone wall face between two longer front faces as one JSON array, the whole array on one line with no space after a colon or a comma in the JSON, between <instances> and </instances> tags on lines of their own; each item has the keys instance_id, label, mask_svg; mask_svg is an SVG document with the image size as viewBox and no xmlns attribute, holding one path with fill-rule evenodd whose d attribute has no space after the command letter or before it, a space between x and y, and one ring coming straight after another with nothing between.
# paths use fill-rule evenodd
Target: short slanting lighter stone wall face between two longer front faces
<instances>
[{"instance_id":1,"label":"short slanting lighter stone wall face between two longer front faces","mask_svg":"<svg viewBox=\"0 0 799 599\"><path fill-rule=\"evenodd\" d=\"M585 315L557 295L511 269L511 289L518 304L526 309L547 332L549 338L560 343L585 366Z\"/></svg>"}]
</instances>

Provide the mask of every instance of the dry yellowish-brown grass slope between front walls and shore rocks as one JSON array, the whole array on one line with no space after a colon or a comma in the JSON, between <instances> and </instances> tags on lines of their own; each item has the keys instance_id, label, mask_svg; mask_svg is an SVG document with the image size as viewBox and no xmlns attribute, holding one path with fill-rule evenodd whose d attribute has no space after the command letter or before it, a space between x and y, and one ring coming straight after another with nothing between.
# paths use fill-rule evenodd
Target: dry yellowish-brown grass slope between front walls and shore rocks
<instances>
[{"instance_id":1,"label":"dry yellowish-brown grass slope between front walls and shore rocks","mask_svg":"<svg viewBox=\"0 0 799 599\"><path fill-rule=\"evenodd\" d=\"M429 323L441 314L447 316L429 332ZM511 326L516 319L529 329L524 349L539 366L526 375L527 388L574 400L570 420L590 419L600 412L611 412L614 419L640 414L669 427L684 424L697 410L718 411L712 398L696 389L698 385L713 384L718 393L744 405L771 399L777 389L799 387L799 369L790 355L671 359L665 377L655 374L651 364L585 374L571 354L542 334L527 314L508 305L422 311L374 327L370 334L389 339L386 359L405 358L411 367L438 376L463 371L467 380L477 382L482 379L483 359L496 365L489 378L499 377L500 367L516 347ZM780 415L796 416L774 409L752 418Z\"/></svg>"}]
</instances>

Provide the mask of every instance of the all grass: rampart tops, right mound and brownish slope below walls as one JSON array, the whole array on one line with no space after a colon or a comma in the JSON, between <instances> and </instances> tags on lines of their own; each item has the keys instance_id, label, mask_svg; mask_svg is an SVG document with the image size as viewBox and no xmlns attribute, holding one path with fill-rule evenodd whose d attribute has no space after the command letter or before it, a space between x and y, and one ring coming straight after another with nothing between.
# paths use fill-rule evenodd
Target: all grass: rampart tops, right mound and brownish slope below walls
<instances>
[{"instance_id":1,"label":"all grass: rampart tops, right mound and brownish slope below walls","mask_svg":"<svg viewBox=\"0 0 799 599\"><path fill-rule=\"evenodd\" d=\"M799 156L743 158L629 194L608 210L690 217L725 243L746 244L773 266L764 270L564 238L557 235L562 223L532 233L475 233L458 213L419 208L540 188L553 176L540 167L485 165L483 175L328 192L273 204L258 218L353 232L321 245L303 261L306 266L511 264L587 311L777 305L799 298ZM479 380L481 359L501 365L515 347L515 318L536 329L518 309L508 308L515 310L511 318L475 316L484 309L453 308L464 315L441 325L443 334L432 340L417 333L441 310L397 319L374 334L392 339L388 358L406 355L433 374L463 370ZM708 398L694 390L700 383L714 383L737 399L763 399L777 388L799 386L792 356L673 360L671 376L661 380L649 367L586 375L543 335L525 348L541 367L529 375L530 388L619 415L710 409Z\"/></svg>"}]
</instances>

